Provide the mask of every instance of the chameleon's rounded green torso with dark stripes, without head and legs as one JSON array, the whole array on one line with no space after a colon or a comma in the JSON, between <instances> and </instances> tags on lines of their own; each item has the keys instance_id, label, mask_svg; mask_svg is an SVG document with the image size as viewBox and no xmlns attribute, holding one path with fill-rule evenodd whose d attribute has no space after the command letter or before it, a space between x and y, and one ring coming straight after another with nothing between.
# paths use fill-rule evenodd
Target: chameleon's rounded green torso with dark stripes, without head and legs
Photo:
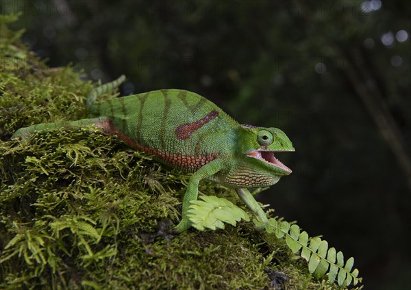
<instances>
[{"instance_id":1,"label":"chameleon's rounded green torso with dark stripes, without head and legs","mask_svg":"<svg viewBox=\"0 0 411 290\"><path fill-rule=\"evenodd\" d=\"M89 109L95 117L108 117L131 146L190 172L232 152L240 126L214 103L186 90L113 98Z\"/></svg>"}]
</instances>

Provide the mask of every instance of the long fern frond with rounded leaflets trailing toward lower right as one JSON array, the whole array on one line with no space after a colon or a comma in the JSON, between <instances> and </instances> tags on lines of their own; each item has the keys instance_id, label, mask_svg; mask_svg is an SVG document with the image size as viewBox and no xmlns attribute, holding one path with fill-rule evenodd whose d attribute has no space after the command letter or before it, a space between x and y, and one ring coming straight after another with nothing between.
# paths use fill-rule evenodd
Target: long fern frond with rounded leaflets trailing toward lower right
<instances>
[{"instance_id":1,"label":"long fern frond with rounded leaflets trailing toward lower right","mask_svg":"<svg viewBox=\"0 0 411 290\"><path fill-rule=\"evenodd\" d=\"M262 225L258 220L253 222L257 226ZM330 284L336 281L339 286L344 287L361 282L362 278L358 278L358 269L351 272L354 259L349 258L344 265L343 253L337 253L335 248L328 248L327 241L321 240L320 237L309 238L305 231L300 233L300 228L296 224L290 225L288 222L279 222L273 218L265 224L265 229L267 233L275 233L277 238L285 236L287 246L293 253L301 250L300 255L308 261L308 270L314 277L321 278L327 274Z\"/></svg>"}]
</instances>

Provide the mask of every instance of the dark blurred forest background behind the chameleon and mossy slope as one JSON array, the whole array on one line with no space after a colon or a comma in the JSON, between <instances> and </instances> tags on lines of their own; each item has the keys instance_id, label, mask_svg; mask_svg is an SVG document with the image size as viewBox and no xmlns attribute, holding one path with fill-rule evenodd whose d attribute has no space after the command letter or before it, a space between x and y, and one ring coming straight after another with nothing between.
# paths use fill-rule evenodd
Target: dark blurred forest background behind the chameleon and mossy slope
<instances>
[{"instance_id":1,"label":"dark blurred forest background behind the chameleon and mossy slope","mask_svg":"<svg viewBox=\"0 0 411 290\"><path fill-rule=\"evenodd\" d=\"M279 127L293 173L260 194L366 289L411 289L410 1L1 1L49 66L192 90Z\"/></svg>"}]
</instances>

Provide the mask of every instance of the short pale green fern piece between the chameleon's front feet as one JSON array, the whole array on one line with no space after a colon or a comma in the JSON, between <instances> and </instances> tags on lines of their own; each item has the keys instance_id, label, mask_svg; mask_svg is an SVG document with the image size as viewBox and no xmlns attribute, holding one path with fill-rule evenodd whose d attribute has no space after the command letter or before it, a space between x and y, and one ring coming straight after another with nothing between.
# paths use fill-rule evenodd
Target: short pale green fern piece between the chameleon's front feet
<instances>
[{"instance_id":1,"label":"short pale green fern piece between the chameleon's front feet","mask_svg":"<svg viewBox=\"0 0 411 290\"><path fill-rule=\"evenodd\" d=\"M197 230L225 228L224 223L236 226L240 220L249 222L250 218L239 207L225 198L200 196L202 200L193 200L188 207L188 219Z\"/></svg>"}]
</instances>

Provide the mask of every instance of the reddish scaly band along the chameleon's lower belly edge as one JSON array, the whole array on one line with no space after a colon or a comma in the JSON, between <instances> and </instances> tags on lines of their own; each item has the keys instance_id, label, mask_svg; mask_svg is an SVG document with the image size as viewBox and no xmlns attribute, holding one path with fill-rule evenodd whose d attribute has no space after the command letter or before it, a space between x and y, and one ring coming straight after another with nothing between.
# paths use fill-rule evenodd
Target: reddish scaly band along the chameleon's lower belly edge
<instances>
[{"instance_id":1,"label":"reddish scaly band along the chameleon's lower belly edge","mask_svg":"<svg viewBox=\"0 0 411 290\"><path fill-rule=\"evenodd\" d=\"M100 120L96 123L96 125L97 127L103 129L105 132L117 135L117 137L121 141L129 144L129 146L132 146L138 150L142 150L146 153L155 155L159 157L160 160L166 163L173 164L173 166L177 166L179 168L183 168L186 170L197 170L201 168L201 166L204 166L208 162L219 157L218 153L208 153L198 156L181 155L177 153L166 153L160 149L151 148L149 146L143 146L135 140L133 140L131 137L125 135L125 133L123 133L119 129L117 129L108 118Z\"/></svg>"}]
</instances>

